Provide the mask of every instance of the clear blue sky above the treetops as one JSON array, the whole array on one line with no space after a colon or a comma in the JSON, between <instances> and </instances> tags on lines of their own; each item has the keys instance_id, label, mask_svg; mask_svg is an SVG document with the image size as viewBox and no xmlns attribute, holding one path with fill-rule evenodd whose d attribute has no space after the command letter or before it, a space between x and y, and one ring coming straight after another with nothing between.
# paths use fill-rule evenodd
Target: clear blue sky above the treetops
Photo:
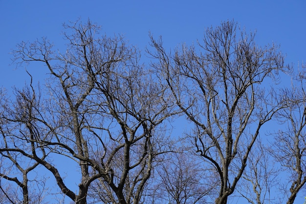
<instances>
[{"instance_id":1,"label":"clear blue sky above the treetops","mask_svg":"<svg viewBox=\"0 0 306 204\"><path fill-rule=\"evenodd\" d=\"M234 20L246 31L257 30L259 45L281 45L286 63L297 68L306 62L305 0L0 0L0 86L20 86L27 79L24 69L9 66L17 43L44 36L61 47L62 23L78 18L100 24L102 33L123 34L142 50L149 31L174 48L201 39L206 27ZM45 75L38 76L43 82Z\"/></svg>"}]
</instances>

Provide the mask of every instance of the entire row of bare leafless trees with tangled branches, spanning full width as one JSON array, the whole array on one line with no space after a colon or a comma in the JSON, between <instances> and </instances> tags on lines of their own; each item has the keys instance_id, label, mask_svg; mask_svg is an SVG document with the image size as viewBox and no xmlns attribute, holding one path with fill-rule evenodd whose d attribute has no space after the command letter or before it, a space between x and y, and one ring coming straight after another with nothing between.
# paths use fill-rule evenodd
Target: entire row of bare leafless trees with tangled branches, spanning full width
<instances>
[{"instance_id":1,"label":"entire row of bare leafless trees with tangled branches, spanning full width","mask_svg":"<svg viewBox=\"0 0 306 204\"><path fill-rule=\"evenodd\" d=\"M144 55L100 32L66 23L64 52L46 38L14 50L17 66L44 65L48 78L36 85L28 69L13 97L1 89L3 201L293 204L306 182L304 67L285 66L278 46L257 45L234 21L170 51L150 35ZM279 84L285 75L292 84ZM55 159L75 164L73 188ZM277 170L292 176L272 198Z\"/></svg>"}]
</instances>

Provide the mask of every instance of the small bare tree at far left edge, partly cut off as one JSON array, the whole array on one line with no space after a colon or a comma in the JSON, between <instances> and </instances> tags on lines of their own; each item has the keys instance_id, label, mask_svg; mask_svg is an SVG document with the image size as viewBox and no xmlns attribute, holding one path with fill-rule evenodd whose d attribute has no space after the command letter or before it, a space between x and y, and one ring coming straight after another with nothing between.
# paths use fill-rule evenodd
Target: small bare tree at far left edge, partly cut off
<instances>
[{"instance_id":1,"label":"small bare tree at far left edge, partly cut off","mask_svg":"<svg viewBox=\"0 0 306 204\"><path fill-rule=\"evenodd\" d=\"M27 91L29 91L29 89L23 89L22 91L15 89L16 109L21 108L20 103L22 103L23 97L25 97L23 93ZM6 98L3 90L0 94L0 104L4 106L9 104L9 99ZM0 114L3 115L4 107L0 110ZM19 110L19 114L20 115L15 116L19 118L24 116L22 110ZM14 146L16 148L22 148L24 151L29 151L30 148L28 144L13 136L19 128L22 129L20 126L11 126L10 121L6 121L4 118L0 119L1 148L8 150L10 146ZM42 177L38 179L38 176L34 176L37 174L36 169L39 163L34 159L22 157L22 153L19 151L0 151L0 156L0 190L5 197L2 201L7 201L7 203L11 204L44 203L44 195L48 191L48 188L45 186L47 178ZM43 154L41 159L44 158L45 155ZM17 186L17 188L13 186Z\"/></svg>"}]
</instances>

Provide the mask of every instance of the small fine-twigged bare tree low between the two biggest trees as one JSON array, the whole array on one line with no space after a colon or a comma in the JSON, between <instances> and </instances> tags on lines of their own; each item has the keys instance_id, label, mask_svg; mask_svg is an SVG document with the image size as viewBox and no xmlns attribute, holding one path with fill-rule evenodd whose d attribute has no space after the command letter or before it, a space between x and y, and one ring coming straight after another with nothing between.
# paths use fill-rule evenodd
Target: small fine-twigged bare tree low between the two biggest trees
<instances>
[{"instance_id":1,"label":"small fine-twigged bare tree low between the two biggest trees","mask_svg":"<svg viewBox=\"0 0 306 204\"><path fill-rule=\"evenodd\" d=\"M205 171L196 160L184 153L173 153L171 158L160 163L156 169L158 177L155 180L159 181L155 186L155 203L207 203L204 197L212 194L217 184L215 177L207 182Z\"/></svg>"}]
</instances>

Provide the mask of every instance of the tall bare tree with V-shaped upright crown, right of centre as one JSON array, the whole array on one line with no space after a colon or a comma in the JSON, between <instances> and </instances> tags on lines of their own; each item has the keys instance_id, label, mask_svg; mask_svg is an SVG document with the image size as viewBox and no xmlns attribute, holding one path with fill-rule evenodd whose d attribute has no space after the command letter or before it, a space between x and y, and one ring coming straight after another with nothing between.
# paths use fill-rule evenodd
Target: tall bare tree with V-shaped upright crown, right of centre
<instances>
[{"instance_id":1,"label":"tall bare tree with V-shaped upright crown, right of centre","mask_svg":"<svg viewBox=\"0 0 306 204\"><path fill-rule=\"evenodd\" d=\"M219 175L216 204L234 193L262 126L282 106L264 82L276 79L284 56L275 45L259 47L254 37L224 22L206 30L199 53L182 45L173 54L151 37L153 67L194 124L196 152Z\"/></svg>"}]
</instances>

